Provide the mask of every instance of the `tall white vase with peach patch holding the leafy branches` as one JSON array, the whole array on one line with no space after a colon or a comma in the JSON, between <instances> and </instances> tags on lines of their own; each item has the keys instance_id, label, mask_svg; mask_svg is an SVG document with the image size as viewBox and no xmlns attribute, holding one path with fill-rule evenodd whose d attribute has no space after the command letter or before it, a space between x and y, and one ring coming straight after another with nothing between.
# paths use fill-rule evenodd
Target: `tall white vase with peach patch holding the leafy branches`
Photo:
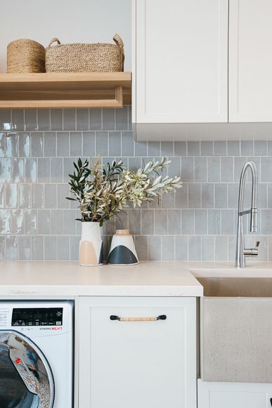
<instances>
[{"instance_id":1,"label":"tall white vase with peach patch holding the leafy branches","mask_svg":"<svg viewBox=\"0 0 272 408\"><path fill-rule=\"evenodd\" d=\"M93 267L101 264L103 264L103 241L99 222L82 222L79 265Z\"/></svg>"}]
</instances>

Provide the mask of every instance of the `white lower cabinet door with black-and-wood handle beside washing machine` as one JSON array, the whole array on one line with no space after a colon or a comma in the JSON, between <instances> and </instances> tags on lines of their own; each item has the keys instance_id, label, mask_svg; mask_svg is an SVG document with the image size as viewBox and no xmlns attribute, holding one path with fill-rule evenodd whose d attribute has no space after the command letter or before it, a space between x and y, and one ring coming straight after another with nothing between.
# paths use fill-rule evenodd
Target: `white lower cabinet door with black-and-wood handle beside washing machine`
<instances>
[{"instance_id":1,"label":"white lower cabinet door with black-and-wood handle beside washing machine","mask_svg":"<svg viewBox=\"0 0 272 408\"><path fill-rule=\"evenodd\" d=\"M196 408L195 314L195 298L82 298L79 407Z\"/></svg>"}]
</instances>

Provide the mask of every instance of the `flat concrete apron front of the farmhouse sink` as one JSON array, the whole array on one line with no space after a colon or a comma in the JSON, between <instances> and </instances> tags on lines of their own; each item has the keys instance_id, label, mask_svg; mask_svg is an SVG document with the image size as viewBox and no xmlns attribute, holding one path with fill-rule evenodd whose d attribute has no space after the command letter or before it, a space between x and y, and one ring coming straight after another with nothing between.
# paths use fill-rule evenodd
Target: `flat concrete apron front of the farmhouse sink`
<instances>
[{"instance_id":1,"label":"flat concrete apron front of the farmhouse sink","mask_svg":"<svg viewBox=\"0 0 272 408\"><path fill-rule=\"evenodd\" d=\"M272 383L272 298L200 300L202 381Z\"/></svg>"}]
</instances>

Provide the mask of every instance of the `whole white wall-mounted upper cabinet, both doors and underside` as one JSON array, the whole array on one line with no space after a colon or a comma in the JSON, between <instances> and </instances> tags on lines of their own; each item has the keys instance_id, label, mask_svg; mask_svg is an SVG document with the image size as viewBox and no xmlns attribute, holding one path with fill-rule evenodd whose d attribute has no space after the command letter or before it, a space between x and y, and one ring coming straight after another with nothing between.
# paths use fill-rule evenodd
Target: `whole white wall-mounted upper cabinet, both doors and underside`
<instances>
[{"instance_id":1,"label":"whole white wall-mounted upper cabinet, both doors and underside","mask_svg":"<svg viewBox=\"0 0 272 408\"><path fill-rule=\"evenodd\" d=\"M272 139L272 0L134 0L136 141Z\"/></svg>"}]
</instances>

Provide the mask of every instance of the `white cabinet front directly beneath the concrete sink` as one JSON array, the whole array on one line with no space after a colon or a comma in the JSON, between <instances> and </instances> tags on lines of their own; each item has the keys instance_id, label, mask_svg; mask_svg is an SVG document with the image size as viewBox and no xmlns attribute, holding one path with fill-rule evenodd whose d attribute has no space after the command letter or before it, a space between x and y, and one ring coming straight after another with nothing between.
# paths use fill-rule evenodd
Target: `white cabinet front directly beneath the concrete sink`
<instances>
[{"instance_id":1,"label":"white cabinet front directly beneath the concrete sink","mask_svg":"<svg viewBox=\"0 0 272 408\"><path fill-rule=\"evenodd\" d=\"M268 408L272 384L197 381L197 408Z\"/></svg>"}]
</instances>

